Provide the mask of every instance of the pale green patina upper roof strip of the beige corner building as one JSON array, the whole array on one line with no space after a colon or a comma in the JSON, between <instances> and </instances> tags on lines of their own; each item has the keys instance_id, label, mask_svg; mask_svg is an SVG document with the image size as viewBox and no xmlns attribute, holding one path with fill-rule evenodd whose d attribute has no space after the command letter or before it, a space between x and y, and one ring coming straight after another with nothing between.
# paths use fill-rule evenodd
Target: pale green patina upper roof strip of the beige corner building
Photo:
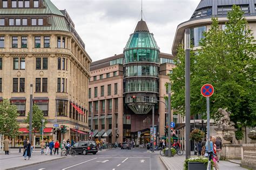
<instances>
[{"instance_id":1,"label":"pale green patina upper roof strip of the beige corner building","mask_svg":"<svg viewBox=\"0 0 256 170\"><path fill-rule=\"evenodd\" d=\"M44 6L46 8L12 8L12 9L1 9L0 15L38 15L38 14L54 14L63 16L63 13L58 10L58 8L50 1L44 0Z\"/></svg>"}]
</instances>

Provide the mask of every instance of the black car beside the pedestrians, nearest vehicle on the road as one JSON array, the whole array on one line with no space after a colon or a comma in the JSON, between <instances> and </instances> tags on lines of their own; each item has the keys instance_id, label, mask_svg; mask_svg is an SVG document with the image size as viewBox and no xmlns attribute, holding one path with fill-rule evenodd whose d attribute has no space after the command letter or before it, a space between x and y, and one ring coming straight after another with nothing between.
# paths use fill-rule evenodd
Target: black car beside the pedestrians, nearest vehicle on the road
<instances>
[{"instance_id":1,"label":"black car beside the pedestrians, nearest vehicle on the road","mask_svg":"<svg viewBox=\"0 0 256 170\"><path fill-rule=\"evenodd\" d=\"M72 149L78 154L96 154L98 152L97 145L94 141L78 141L72 146Z\"/></svg>"}]
</instances>

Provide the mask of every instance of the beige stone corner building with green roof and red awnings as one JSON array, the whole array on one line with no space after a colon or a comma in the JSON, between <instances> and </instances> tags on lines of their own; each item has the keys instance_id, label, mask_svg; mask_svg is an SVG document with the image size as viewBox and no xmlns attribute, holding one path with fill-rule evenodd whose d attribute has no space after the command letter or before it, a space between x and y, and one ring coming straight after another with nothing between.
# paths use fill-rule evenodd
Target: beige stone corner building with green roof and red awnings
<instances>
[{"instance_id":1,"label":"beige stone corner building with green roof and red awnings","mask_svg":"<svg viewBox=\"0 0 256 170\"><path fill-rule=\"evenodd\" d=\"M18 108L21 135L28 137L24 118L33 103L48 119L44 138L59 139L53 124L67 125L64 139L87 138L90 56L66 10L50 0L0 1L0 100L8 98ZM77 125L78 129L75 129ZM39 144L41 134L35 136Z\"/></svg>"}]
</instances>

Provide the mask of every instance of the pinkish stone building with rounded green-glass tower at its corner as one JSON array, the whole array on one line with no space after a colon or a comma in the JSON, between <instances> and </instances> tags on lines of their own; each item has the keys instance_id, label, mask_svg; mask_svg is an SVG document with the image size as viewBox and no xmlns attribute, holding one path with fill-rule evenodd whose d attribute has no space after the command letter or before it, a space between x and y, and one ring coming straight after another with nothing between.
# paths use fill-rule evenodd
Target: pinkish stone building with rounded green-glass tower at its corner
<instances>
[{"instance_id":1,"label":"pinkish stone building with rounded green-glass tower at its corner","mask_svg":"<svg viewBox=\"0 0 256 170\"><path fill-rule=\"evenodd\" d=\"M165 136L167 108L162 102L167 101L165 83L173 67L173 56L160 53L153 33L140 20L123 54L91 64L91 137L110 143L134 139L136 144L145 144L153 132L153 108L156 139Z\"/></svg>"}]
</instances>

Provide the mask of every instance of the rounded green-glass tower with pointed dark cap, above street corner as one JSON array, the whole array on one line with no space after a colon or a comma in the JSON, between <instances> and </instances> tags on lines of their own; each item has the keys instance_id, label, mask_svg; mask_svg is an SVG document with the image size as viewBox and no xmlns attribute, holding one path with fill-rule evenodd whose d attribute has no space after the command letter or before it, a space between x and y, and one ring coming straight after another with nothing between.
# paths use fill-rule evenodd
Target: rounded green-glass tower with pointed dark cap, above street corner
<instances>
[{"instance_id":1,"label":"rounded green-glass tower with pointed dark cap, above street corner","mask_svg":"<svg viewBox=\"0 0 256 170\"><path fill-rule=\"evenodd\" d=\"M159 94L159 47L140 20L124 48L125 103L135 114L147 114Z\"/></svg>"}]
</instances>

